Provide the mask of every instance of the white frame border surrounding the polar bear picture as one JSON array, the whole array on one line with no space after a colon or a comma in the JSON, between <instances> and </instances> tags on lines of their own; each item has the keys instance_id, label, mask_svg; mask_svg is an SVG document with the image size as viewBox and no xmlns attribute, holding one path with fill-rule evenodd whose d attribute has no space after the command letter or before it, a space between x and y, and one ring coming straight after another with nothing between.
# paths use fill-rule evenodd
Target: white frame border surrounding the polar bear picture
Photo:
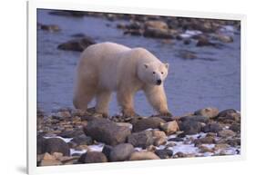
<instances>
[{"instance_id":1,"label":"white frame border surrounding the polar bear picture","mask_svg":"<svg viewBox=\"0 0 256 175\"><path fill-rule=\"evenodd\" d=\"M140 14L140 15L172 15L180 17L216 18L241 21L241 155L218 156L206 158L175 159L175 160L139 160L126 162L96 163L86 165L64 165L51 167L36 167L36 9L80 10L92 12ZM40 0L27 2L27 173L41 174L52 172L76 172L88 170L114 170L137 167L169 166L188 163L223 162L245 160L246 158L246 128L245 128L245 31L246 15L220 14L205 12L177 11L170 9L148 9L126 6L89 5L82 1L72 2L57 0Z\"/></svg>"}]
</instances>

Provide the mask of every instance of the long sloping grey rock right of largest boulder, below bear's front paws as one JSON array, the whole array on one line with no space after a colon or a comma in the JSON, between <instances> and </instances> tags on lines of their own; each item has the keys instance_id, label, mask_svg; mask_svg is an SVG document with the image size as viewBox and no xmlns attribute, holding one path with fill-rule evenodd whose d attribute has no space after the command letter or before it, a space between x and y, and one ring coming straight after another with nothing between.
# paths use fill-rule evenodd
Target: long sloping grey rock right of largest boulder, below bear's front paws
<instances>
[{"instance_id":1,"label":"long sloping grey rock right of largest boulder, below bear's front paws","mask_svg":"<svg viewBox=\"0 0 256 175\"><path fill-rule=\"evenodd\" d=\"M147 119L142 119L138 120L138 122L135 122L133 124L132 131L144 131L148 128L159 129L161 123L165 123L165 121L159 117L148 117Z\"/></svg>"}]
</instances>

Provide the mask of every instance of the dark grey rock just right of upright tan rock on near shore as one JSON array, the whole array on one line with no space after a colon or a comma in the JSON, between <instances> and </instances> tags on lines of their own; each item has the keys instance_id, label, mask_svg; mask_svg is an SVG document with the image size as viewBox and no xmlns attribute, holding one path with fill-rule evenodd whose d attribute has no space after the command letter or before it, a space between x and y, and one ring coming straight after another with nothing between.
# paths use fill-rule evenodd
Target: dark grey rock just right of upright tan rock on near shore
<instances>
[{"instance_id":1,"label":"dark grey rock just right of upright tan rock on near shore","mask_svg":"<svg viewBox=\"0 0 256 175\"><path fill-rule=\"evenodd\" d=\"M186 135L196 134L201 131L201 124L194 120L185 120L179 124L179 129Z\"/></svg>"}]
</instances>

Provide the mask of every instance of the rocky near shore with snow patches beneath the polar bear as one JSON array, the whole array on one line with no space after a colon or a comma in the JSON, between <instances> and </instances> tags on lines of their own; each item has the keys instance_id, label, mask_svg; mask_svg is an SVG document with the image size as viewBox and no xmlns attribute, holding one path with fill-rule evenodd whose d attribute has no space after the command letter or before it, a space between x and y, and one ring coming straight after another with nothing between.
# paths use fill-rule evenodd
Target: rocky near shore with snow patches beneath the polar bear
<instances>
[{"instance_id":1,"label":"rocky near shore with snow patches beneath the polar bear","mask_svg":"<svg viewBox=\"0 0 256 175\"><path fill-rule=\"evenodd\" d=\"M37 166L240 154L241 113L205 108L184 116L103 118L37 111Z\"/></svg>"}]
</instances>

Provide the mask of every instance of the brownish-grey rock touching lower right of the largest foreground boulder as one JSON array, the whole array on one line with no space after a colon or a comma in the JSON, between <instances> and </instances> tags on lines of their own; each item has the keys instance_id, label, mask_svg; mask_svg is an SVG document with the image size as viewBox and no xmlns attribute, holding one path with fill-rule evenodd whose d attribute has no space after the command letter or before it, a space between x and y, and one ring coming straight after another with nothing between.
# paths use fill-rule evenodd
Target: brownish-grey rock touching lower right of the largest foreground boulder
<instances>
[{"instance_id":1,"label":"brownish-grey rock touching lower right of the largest foreground boulder","mask_svg":"<svg viewBox=\"0 0 256 175\"><path fill-rule=\"evenodd\" d=\"M152 131L134 132L128 136L128 143L134 147L146 148L154 143Z\"/></svg>"}]
</instances>

